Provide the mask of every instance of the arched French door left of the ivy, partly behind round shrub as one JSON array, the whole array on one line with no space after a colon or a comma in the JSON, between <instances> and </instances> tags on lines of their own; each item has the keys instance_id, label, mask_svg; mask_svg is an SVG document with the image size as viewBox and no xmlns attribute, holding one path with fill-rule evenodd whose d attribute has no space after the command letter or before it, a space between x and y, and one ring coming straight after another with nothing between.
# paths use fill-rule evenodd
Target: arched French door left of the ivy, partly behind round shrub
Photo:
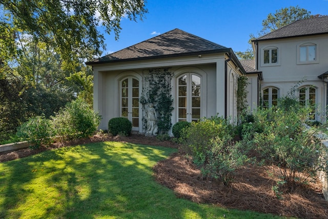
<instances>
[{"instance_id":1,"label":"arched French door left of the ivy, partly behind round shrub","mask_svg":"<svg viewBox=\"0 0 328 219\"><path fill-rule=\"evenodd\" d=\"M120 82L120 117L132 122L132 130L139 130L139 80L133 77Z\"/></svg>"}]
</instances>

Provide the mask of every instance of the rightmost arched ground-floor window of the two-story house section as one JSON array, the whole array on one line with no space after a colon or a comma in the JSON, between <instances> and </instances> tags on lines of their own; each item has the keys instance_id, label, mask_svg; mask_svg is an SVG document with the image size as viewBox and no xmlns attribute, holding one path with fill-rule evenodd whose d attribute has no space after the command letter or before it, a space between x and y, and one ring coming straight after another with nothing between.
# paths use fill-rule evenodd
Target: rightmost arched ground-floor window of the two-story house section
<instances>
[{"instance_id":1,"label":"rightmost arched ground-floor window of the two-story house section","mask_svg":"<svg viewBox=\"0 0 328 219\"><path fill-rule=\"evenodd\" d=\"M299 103L301 106L311 107L311 120L316 118L316 89L312 86L305 86L299 90Z\"/></svg>"}]
</instances>

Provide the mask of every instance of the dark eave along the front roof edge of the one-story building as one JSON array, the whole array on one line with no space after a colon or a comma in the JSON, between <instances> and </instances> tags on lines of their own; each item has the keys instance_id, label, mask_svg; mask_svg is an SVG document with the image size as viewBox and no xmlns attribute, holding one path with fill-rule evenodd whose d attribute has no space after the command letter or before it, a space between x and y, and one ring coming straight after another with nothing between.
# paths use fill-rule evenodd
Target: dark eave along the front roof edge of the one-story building
<instances>
[{"instance_id":1,"label":"dark eave along the front roof edge of the one-story building","mask_svg":"<svg viewBox=\"0 0 328 219\"><path fill-rule=\"evenodd\" d=\"M190 55L226 53L226 52L231 52L231 51L232 51L231 48L225 48L225 49L218 49L218 50L206 50L206 51L197 51L197 52L189 52L189 53L177 53L177 54L170 54L170 55L136 57L136 58L127 58L127 59L113 59L113 60L105 60L105 61L89 61L89 62L85 62L85 64L95 65L95 64L125 62L125 61L149 60L149 59L157 59L157 58L171 58L171 57L182 57L182 56L190 56Z\"/></svg>"}]
</instances>

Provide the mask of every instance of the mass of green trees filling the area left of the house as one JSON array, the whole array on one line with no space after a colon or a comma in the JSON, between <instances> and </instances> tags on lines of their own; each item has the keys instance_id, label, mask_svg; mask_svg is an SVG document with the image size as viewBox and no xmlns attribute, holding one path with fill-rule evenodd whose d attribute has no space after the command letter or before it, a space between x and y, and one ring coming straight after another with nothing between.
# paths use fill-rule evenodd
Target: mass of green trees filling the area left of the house
<instances>
[{"instance_id":1,"label":"mass of green trees filling the area left of the house","mask_svg":"<svg viewBox=\"0 0 328 219\"><path fill-rule=\"evenodd\" d=\"M143 0L0 0L0 138L30 117L49 118L76 97L93 102L84 62L101 54L104 34L142 19Z\"/></svg>"}]
</instances>

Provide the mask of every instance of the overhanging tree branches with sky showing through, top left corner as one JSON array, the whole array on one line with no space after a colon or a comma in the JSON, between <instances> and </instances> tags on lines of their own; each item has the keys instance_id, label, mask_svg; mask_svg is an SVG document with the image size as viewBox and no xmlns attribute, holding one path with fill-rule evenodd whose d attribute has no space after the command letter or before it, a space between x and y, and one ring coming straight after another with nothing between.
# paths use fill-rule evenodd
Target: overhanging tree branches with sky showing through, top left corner
<instances>
[{"instance_id":1,"label":"overhanging tree branches with sky showing through, top left corner","mask_svg":"<svg viewBox=\"0 0 328 219\"><path fill-rule=\"evenodd\" d=\"M122 17L136 21L147 13L143 0L0 0L0 11L2 27L51 45L69 69L77 59L101 54L105 43L99 26L118 38ZM10 31L4 33L10 42L15 38Z\"/></svg>"}]
</instances>

